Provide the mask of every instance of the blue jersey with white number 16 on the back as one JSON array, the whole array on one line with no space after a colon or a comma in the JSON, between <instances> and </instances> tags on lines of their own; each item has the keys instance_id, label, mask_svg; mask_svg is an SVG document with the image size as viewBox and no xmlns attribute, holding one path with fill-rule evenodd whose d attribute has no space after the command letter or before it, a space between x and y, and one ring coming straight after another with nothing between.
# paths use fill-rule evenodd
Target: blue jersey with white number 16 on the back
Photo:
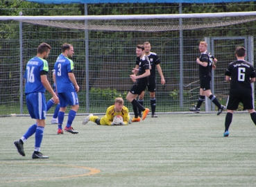
<instances>
[{"instance_id":1,"label":"blue jersey with white number 16 on the back","mask_svg":"<svg viewBox=\"0 0 256 187\"><path fill-rule=\"evenodd\" d=\"M48 62L40 57L33 57L26 64L24 78L26 79L25 94L45 92L41 82L41 71L49 71Z\"/></svg>"}]
</instances>

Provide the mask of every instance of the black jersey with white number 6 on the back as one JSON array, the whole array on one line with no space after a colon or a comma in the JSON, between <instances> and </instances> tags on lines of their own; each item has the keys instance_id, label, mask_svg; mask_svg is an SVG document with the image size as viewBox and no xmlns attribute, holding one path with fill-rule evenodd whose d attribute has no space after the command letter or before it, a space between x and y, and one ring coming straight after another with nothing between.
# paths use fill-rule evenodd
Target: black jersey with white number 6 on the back
<instances>
[{"instance_id":1,"label":"black jersey with white number 6 on the back","mask_svg":"<svg viewBox=\"0 0 256 187\"><path fill-rule=\"evenodd\" d=\"M230 76L230 96L251 96L250 78L255 78L255 69L245 60L237 60L228 65L225 75Z\"/></svg>"}]
</instances>

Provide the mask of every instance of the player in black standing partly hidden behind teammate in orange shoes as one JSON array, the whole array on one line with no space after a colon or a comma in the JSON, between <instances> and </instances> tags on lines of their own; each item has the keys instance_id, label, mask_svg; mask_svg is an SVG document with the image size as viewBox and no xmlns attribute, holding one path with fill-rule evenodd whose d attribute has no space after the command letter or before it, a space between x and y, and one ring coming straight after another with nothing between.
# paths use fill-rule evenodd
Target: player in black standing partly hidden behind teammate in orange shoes
<instances>
[{"instance_id":1,"label":"player in black standing partly hidden behind teammate in orange shoes","mask_svg":"<svg viewBox=\"0 0 256 187\"><path fill-rule=\"evenodd\" d=\"M161 78L161 84L165 84L164 80L164 75L162 73L162 69L160 66L160 58L157 56L156 53L151 52L151 44L149 42L144 42L144 48L145 48L145 55L148 57L149 62L151 63L151 75L148 76L148 91L149 91L149 96L151 98L151 117L152 118L157 118L155 115L155 107L156 107L156 100L155 100L155 90L156 90L156 77L155 77L155 68L157 69L160 78ZM140 59L137 57L136 59L136 66L135 69L139 69L139 62ZM142 91L142 94L139 94L138 102L139 104L143 105L144 103L144 95L145 91ZM142 117L142 111L139 110L139 117ZM133 122L138 122L140 121L140 118L136 118L137 121Z\"/></svg>"}]
</instances>

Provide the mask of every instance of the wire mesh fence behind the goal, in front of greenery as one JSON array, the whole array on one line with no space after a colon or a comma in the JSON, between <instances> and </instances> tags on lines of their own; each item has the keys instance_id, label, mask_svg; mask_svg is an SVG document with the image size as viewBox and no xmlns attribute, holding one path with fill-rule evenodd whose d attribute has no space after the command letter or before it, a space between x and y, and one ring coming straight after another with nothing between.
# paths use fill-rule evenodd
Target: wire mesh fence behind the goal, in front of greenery
<instances>
[{"instance_id":1,"label":"wire mesh fence behind the goal, in front of greenery","mask_svg":"<svg viewBox=\"0 0 256 187\"><path fill-rule=\"evenodd\" d=\"M8 8L12 7L10 4L14 1L5 2L8 6L5 4L6 8L0 9L1 15L10 15L11 12L12 15L18 15L20 11L23 15L85 15L85 5L83 4L44 5L23 2L26 3L27 8L14 9ZM3 5L3 1L0 1L0 4ZM250 10L255 8L252 2L203 4L203 6L201 4L193 6L184 4L182 12L193 12L196 8L201 12L241 11L241 8L248 10L248 5L250 5ZM178 3L109 3L87 6L88 15L175 14L178 13L178 8ZM193 25L198 23L198 20L191 19L190 22ZM60 46L65 42L73 44L74 74L80 86L78 93L80 102L78 113L80 114L105 112L106 107L112 105L117 96L121 96L125 100L126 94L133 85L129 75L135 67L136 45L146 41L151 43L151 51L160 57L160 66L166 80L166 84L160 84L160 76L156 72L156 112L186 112L198 100L199 82L198 65L196 64L196 57L199 55L198 42L207 37L212 46L210 50L214 51L214 56L219 60L217 69L214 71L214 94L221 104L225 105L229 88L229 84L224 81L225 69L228 63L235 60L234 49L236 46L248 47L248 40L255 37L255 25L255 21L250 21L230 26L182 30L182 38L180 38L180 30L162 32L88 30L87 46L85 30L27 23L22 24L21 28L17 21L1 21L0 116L28 114L24 95L21 94L24 93L21 89L21 76L24 73L26 62L36 55L37 46L42 42L46 42L52 47L51 54L47 59L50 70L53 69L53 64L61 53ZM19 32L22 33L22 40ZM241 36L244 38L234 39L234 37ZM219 37L219 39L211 40L214 37ZM180 51L180 41L182 41L182 51ZM22 53L20 53L20 44L22 44ZM250 49L254 51L254 48L253 44ZM89 69L85 68L85 51L89 53ZM180 62L181 55L182 62ZM21 66L22 72L20 71ZM87 77L89 78L89 90L86 89ZM182 82L180 82L181 78ZM51 73L49 73L49 81L53 84ZM22 86L24 86L23 83ZM182 103L180 103L181 87ZM87 91L89 91L89 98L87 98ZM22 100L21 96L23 96ZM46 98L49 99L51 96L46 94ZM130 112L133 111L130 103L125 101L125 105ZM144 105L150 107L148 92L145 94ZM202 110L204 107L205 105ZM49 111L49 113L52 112Z\"/></svg>"}]
</instances>

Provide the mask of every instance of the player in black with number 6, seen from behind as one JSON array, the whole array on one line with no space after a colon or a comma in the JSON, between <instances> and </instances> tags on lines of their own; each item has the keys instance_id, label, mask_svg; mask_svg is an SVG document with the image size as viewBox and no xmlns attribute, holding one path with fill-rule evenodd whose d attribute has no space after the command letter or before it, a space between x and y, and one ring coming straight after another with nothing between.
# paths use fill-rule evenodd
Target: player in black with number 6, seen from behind
<instances>
[{"instance_id":1,"label":"player in black with number 6, seen from behind","mask_svg":"<svg viewBox=\"0 0 256 187\"><path fill-rule=\"evenodd\" d=\"M256 113L254 110L253 89L250 83L255 82L255 69L253 64L246 62L246 49L237 47L237 61L231 62L225 72L225 80L230 82L230 96L228 96L227 115L225 116L225 131L223 136L228 136L230 124L234 110L238 108L239 103L243 103L244 110L250 113L253 123L256 125Z\"/></svg>"}]
</instances>

